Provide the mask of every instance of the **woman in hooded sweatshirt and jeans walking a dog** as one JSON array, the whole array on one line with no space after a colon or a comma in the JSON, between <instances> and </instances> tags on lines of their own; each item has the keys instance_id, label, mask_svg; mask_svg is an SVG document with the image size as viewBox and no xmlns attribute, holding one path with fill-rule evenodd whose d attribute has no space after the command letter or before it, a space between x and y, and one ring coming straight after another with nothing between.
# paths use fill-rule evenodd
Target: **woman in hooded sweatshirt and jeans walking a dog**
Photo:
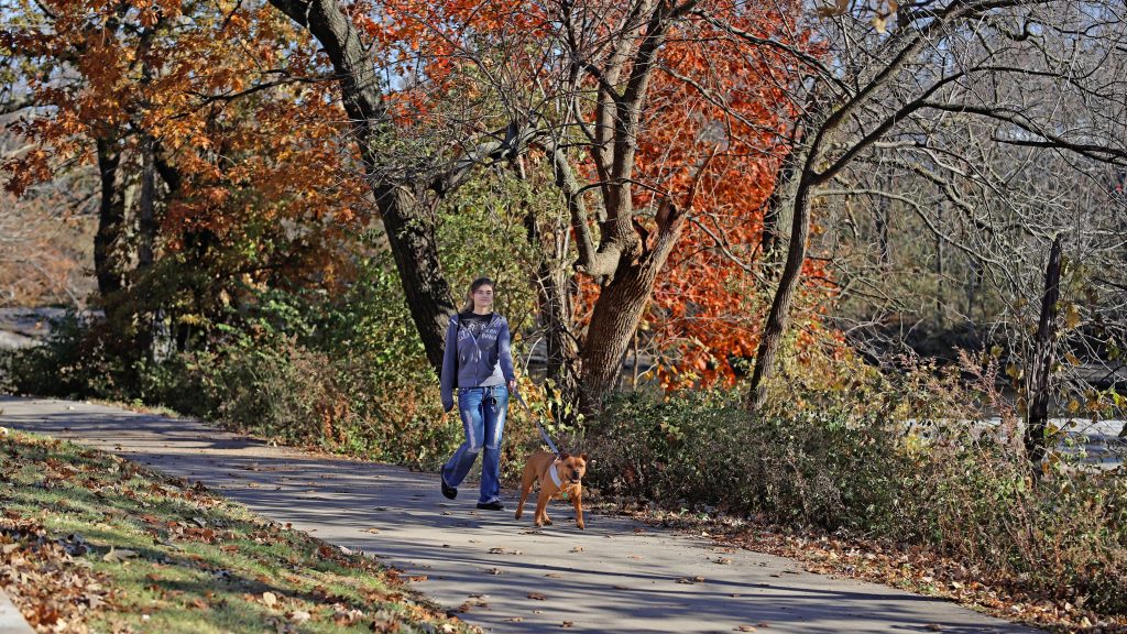
<instances>
[{"instance_id":1,"label":"woman in hooded sweatshirt and jeans walking a dog","mask_svg":"<svg viewBox=\"0 0 1127 634\"><path fill-rule=\"evenodd\" d=\"M492 311L494 283L479 278L470 284L469 302L450 317L446 351L442 361L442 408L454 407L462 416L465 441L442 466L442 494L453 500L458 485L481 459L481 493L478 508L503 511L500 501L500 443L508 413L509 391L516 389L508 322Z\"/></svg>"}]
</instances>

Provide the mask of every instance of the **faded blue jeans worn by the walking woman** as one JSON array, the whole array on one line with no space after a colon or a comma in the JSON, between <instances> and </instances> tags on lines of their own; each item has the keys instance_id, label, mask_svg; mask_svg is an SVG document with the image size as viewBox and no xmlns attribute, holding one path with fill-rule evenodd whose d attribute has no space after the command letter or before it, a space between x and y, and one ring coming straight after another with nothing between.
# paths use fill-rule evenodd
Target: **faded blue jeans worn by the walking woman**
<instances>
[{"instance_id":1,"label":"faded blue jeans worn by the walking woman","mask_svg":"<svg viewBox=\"0 0 1127 634\"><path fill-rule=\"evenodd\" d=\"M508 388L470 387L458 389L458 411L462 415L465 442L442 466L442 479L458 486L485 449L481 458L481 496L478 502L500 500L500 442L508 413Z\"/></svg>"}]
</instances>

